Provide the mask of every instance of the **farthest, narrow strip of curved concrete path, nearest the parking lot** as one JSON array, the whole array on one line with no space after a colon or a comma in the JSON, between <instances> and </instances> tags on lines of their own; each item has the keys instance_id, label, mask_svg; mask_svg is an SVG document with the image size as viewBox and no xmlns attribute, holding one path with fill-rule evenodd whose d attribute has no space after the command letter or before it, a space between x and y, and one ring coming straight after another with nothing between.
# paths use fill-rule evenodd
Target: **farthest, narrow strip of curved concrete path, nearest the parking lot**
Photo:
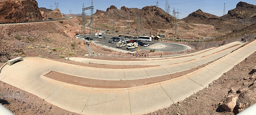
<instances>
[{"instance_id":1,"label":"farthest, narrow strip of curved concrete path, nearest the parking lot","mask_svg":"<svg viewBox=\"0 0 256 115\"><path fill-rule=\"evenodd\" d=\"M172 56L172 57L166 57L166 58L140 58L140 59L145 59L148 61L108 61L108 60L97 60L97 59L88 59L88 58L82 58L82 57L70 57L69 59L71 61L76 61L76 62L82 62L82 63L94 63L94 64L105 64L105 65L168 65L168 64L174 64L174 63L181 63L181 62L186 62L190 60L195 60L195 59L200 59L203 56L207 56L210 54L213 54L218 51L222 51L228 47L231 47L233 45L237 44L244 44L242 42L232 42L226 45L223 45L218 48L210 48L194 53L189 53L189 54L184 54L184 55L179 55L179 56ZM187 56L187 57L182 57L182 56ZM174 59L176 58L176 59Z\"/></svg>"}]
</instances>

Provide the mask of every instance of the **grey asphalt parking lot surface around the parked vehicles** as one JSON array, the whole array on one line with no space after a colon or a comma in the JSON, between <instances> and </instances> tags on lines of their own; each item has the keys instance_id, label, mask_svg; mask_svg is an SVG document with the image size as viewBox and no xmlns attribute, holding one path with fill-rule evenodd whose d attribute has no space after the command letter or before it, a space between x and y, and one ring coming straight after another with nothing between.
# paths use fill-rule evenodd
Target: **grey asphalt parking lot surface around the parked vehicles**
<instances>
[{"instance_id":1,"label":"grey asphalt parking lot surface around the parked vehicles","mask_svg":"<svg viewBox=\"0 0 256 115\"><path fill-rule=\"evenodd\" d=\"M90 35L87 35L88 37ZM91 37L91 36L90 36ZM131 51L134 52L136 50L138 50L140 48L140 50L147 50L150 51L151 49L155 49L156 51L183 51L186 49L190 49L189 46L187 45L183 45L183 44L176 44L176 43L166 43L166 42L160 42L160 41L151 41L151 42L144 42L143 43L148 43L150 44L150 46L144 47L144 46L139 46L139 48L135 48L135 49L126 49L125 47L121 47L118 48L116 47L116 42L114 43L109 43L109 40L112 40L112 37L118 37L118 36L114 36L114 35L109 35L109 34L102 34L102 38L93 38L97 44L101 44L104 46L109 46L109 47L114 47L116 49L121 49L121 50L126 50L126 51ZM123 39L129 39L129 38L124 38L124 37L118 37L118 38L123 38ZM138 39L130 39L130 40L138 40Z\"/></svg>"}]
</instances>

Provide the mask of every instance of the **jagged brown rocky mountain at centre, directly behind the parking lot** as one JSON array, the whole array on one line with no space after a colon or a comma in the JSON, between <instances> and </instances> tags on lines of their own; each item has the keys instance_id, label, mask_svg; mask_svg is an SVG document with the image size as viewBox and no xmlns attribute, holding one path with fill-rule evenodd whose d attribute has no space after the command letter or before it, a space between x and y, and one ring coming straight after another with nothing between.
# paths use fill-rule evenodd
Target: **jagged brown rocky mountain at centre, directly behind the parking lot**
<instances>
[{"instance_id":1,"label":"jagged brown rocky mountain at centre, directly behind the parking lot","mask_svg":"<svg viewBox=\"0 0 256 115\"><path fill-rule=\"evenodd\" d=\"M121 9L117 9L115 6L111 6L106 11L97 10L94 15L96 19L128 20L129 8L123 6ZM130 8L130 20L131 24L135 26L140 22L147 28L163 29L168 27L166 24L172 23L174 17L156 6L146 6L142 9Z\"/></svg>"}]
</instances>

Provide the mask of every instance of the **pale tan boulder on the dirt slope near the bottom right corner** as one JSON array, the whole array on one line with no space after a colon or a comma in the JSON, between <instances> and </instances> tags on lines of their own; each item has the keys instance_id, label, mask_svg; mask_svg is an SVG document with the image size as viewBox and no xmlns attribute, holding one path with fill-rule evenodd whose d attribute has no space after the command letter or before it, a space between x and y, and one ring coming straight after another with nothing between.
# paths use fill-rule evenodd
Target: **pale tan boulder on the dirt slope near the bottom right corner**
<instances>
[{"instance_id":1,"label":"pale tan boulder on the dirt slope near the bottom right corner","mask_svg":"<svg viewBox=\"0 0 256 115\"><path fill-rule=\"evenodd\" d=\"M234 97L232 95L227 97L227 99L224 101L224 103L222 105L222 108L224 108L228 112L233 111L234 107L237 104L237 99L238 99L238 97Z\"/></svg>"}]
</instances>

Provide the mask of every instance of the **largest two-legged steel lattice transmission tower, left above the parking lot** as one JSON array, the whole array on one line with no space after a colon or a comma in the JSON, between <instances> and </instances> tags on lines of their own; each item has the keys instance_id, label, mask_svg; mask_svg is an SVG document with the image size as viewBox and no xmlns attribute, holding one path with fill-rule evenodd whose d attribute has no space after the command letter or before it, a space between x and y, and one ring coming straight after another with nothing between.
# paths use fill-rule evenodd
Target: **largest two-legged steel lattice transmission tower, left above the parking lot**
<instances>
[{"instance_id":1,"label":"largest two-legged steel lattice transmission tower, left above the parking lot","mask_svg":"<svg viewBox=\"0 0 256 115\"><path fill-rule=\"evenodd\" d=\"M94 35L94 27L93 27L93 10L94 10L94 6L93 6L93 0L92 0L92 3L91 3L91 6L90 7L87 7L87 8L84 8L84 4L82 6L82 31L81 31L81 34L85 34L86 33L86 18L85 18L85 11L86 10L90 10L91 9L91 22L90 22L90 34Z\"/></svg>"}]
</instances>

